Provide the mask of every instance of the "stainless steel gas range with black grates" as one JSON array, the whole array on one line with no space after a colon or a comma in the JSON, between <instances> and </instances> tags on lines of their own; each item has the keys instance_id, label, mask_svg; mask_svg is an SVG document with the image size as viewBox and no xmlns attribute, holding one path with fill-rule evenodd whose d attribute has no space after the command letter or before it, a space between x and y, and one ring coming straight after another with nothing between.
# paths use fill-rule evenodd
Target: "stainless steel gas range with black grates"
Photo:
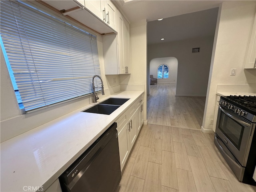
<instances>
[{"instance_id":1,"label":"stainless steel gas range with black grates","mask_svg":"<svg viewBox=\"0 0 256 192\"><path fill-rule=\"evenodd\" d=\"M214 143L239 181L256 185L256 96L222 96Z\"/></svg>"}]
</instances>

